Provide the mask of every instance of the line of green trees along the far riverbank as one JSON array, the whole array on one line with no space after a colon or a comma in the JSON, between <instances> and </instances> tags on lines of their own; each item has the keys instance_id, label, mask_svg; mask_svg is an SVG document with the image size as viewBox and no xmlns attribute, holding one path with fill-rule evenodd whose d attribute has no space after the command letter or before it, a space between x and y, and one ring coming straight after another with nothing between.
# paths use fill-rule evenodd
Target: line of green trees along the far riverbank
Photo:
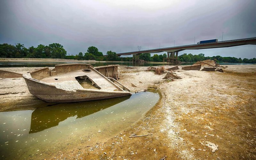
<instances>
[{"instance_id":1,"label":"line of green trees along the far riverbank","mask_svg":"<svg viewBox=\"0 0 256 160\"><path fill-rule=\"evenodd\" d=\"M59 58L59 59L75 59L75 60L97 60L97 61L132 61L132 57L118 57L116 52L108 51L107 56L104 57L102 52L99 52L97 47L91 46L87 48L87 52L79 52L78 54L67 56L67 51L63 48L63 45L53 43L49 45L39 44L37 47L31 46L29 48L24 47L24 44L0 44L0 58ZM163 59L167 58L167 54L154 54L150 53L140 54L140 59L145 61L163 62ZM202 60L214 60L216 62L228 62L228 63L256 63L256 58L241 59L236 57L221 57L212 56L205 57L203 53L200 54L187 54L184 53L178 56L178 60L181 62L196 62Z\"/></svg>"}]
</instances>

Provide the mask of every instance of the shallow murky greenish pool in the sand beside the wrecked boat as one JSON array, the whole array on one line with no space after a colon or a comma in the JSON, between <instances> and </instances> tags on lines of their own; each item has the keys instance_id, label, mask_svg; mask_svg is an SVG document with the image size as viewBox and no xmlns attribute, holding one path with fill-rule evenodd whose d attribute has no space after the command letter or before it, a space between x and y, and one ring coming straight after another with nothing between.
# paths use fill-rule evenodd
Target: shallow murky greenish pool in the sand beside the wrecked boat
<instances>
[{"instance_id":1,"label":"shallow murky greenish pool in the sand beside the wrecked boat","mask_svg":"<svg viewBox=\"0 0 256 160\"><path fill-rule=\"evenodd\" d=\"M28 106L34 110L24 106L0 112L0 157L49 159L60 150L102 144L120 135L158 100L157 93L141 92L107 100L44 103Z\"/></svg>"}]
</instances>

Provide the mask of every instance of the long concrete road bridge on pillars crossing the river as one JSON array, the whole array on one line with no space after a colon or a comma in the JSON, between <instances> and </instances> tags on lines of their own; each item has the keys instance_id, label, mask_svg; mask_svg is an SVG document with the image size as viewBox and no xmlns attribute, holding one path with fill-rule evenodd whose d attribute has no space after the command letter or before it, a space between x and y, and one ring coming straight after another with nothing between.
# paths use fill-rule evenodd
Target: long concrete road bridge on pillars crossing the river
<instances>
[{"instance_id":1,"label":"long concrete road bridge on pillars crossing the river","mask_svg":"<svg viewBox=\"0 0 256 160\"><path fill-rule=\"evenodd\" d=\"M198 50L198 49L209 49L209 48L223 48L223 47L234 47L239 45L246 44L256 44L256 37L254 38L245 38L245 39L235 39L229 41L221 41L215 43L203 43L203 44L192 44L192 45L182 45L176 47L167 47L167 48L157 48L150 50L142 50L142 51L133 51L133 52L124 52L117 53L117 56L122 55L133 55L133 61L139 60L139 55L142 53L159 53L159 52L167 52L167 62L177 62L178 53L183 50ZM104 55L107 56L107 55Z\"/></svg>"}]
</instances>

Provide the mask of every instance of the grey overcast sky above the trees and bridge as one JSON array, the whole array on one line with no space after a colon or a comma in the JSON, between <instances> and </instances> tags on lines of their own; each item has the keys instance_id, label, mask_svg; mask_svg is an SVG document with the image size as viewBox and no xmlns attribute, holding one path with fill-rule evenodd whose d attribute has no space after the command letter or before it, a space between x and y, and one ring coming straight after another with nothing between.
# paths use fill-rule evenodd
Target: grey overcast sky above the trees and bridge
<instances>
[{"instance_id":1,"label":"grey overcast sky above the trees and bridge","mask_svg":"<svg viewBox=\"0 0 256 160\"><path fill-rule=\"evenodd\" d=\"M222 32L223 40L256 37L255 8L256 0L2 0L0 44L60 43L76 55L221 41ZM253 58L256 45L180 53Z\"/></svg>"}]
</instances>

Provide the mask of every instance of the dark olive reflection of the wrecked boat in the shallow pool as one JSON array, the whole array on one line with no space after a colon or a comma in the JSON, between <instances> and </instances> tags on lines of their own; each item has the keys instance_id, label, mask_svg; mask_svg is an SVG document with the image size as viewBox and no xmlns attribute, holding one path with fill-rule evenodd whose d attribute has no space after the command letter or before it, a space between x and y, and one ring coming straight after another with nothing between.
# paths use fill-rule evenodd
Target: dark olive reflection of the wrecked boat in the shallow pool
<instances>
[{"instance_id":1,"label":"dark olive reflection of the wrecked boat in the shallow pool","mask_svg":"<svg viewBox=\"0 0 256 160\"><path fill-rule=\"evenodd\" d=\"M60 103L48 105L48 107L36 108L31 115L31 124L29 133L40 132L45 129L57 126L61 121L68 117L77 116L82 118L91 115L100 110L106 109L124 100L128 100L131 95L88 102L78 103ZM97 103L97 105L95 105Z\"/></svg>"}]
</instances>

